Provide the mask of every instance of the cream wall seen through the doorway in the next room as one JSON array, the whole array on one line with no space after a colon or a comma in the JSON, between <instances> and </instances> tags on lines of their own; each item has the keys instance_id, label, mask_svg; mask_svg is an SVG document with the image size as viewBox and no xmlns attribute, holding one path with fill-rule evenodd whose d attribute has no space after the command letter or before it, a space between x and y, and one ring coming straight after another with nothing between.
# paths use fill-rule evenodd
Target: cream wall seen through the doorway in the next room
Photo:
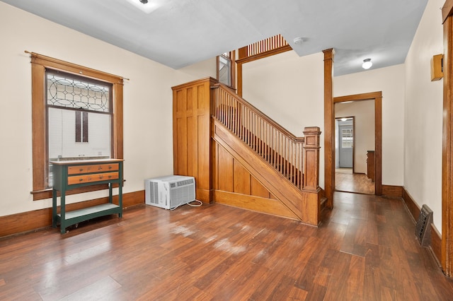
<instances>
[{"instance_id":1,"label":"cream wall seen through the doorway in the next room","mask_svg":"<svg viewBox=\"0 0 453 301\"><path fill-rule=\"evenodd\" d=\"M374 151L374 100L337 102L335 117L355 117L354 172L366 174L367 151ZM338 151L336 151L336 161L337 158Z\"/></svg>"}]
</instances>

